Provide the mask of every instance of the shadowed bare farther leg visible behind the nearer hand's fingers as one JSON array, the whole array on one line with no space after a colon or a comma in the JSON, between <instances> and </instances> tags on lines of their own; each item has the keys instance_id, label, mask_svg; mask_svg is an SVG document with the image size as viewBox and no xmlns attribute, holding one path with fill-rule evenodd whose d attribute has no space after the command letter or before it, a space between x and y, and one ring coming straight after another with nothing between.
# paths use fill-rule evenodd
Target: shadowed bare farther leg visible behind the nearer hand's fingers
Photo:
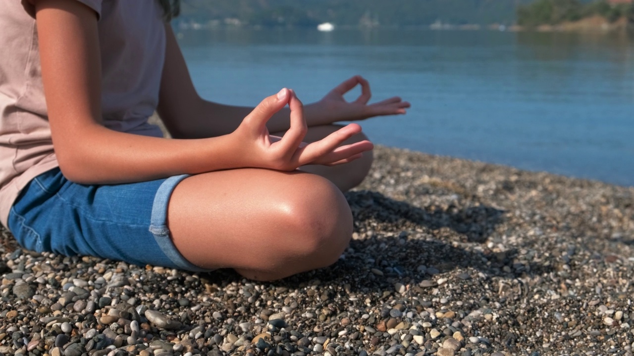
<instances>
[{"instance_id":1,"label":"shadowed bare farther leg visible behind the nearer hand's fingers","mask_svg":"<svg viewBox=\"0 0 634 356\"><path fill-rule=\"evenodd\" d=\"M319 141L320 139L323 139L323 137L332 134L332 132L339 130L341 127L343 126L323 125L309 127L304 141ZM283 134L283 132L276 132L274 135L281 136ZM368 137L366 137L364 134L358 134L354 137L351 137L351 139L346 141L345 144L351 144L363 141L365 139L368 139ZM363 157L359 158L358 160L354 160L353 162L343 165L336 165L333 167L327 167L323 165L307 165L301 167L301 170L304 172L321 175L321 177L325 177L333 182L335 186L341 189L341 191L347 191L361 184L363 179L365 179L366 175L368 175L368 172L370 171L372 160L372 151L368 151L363 153Z\"/></svg>"}]
</instances>

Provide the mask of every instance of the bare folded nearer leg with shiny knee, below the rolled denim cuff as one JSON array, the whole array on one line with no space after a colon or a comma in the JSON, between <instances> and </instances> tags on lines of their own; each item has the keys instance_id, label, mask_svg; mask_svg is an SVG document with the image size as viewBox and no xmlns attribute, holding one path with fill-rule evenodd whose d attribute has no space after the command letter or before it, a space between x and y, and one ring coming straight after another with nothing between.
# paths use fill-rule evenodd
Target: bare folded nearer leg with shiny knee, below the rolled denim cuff
<instances>
[{"instance_id":1,"label":"bare folded nearer leg with shiny knee, below the rolled denim cuff","mask_svg":"<svg viewBox=\"0 0 634 356\"><path fill-rule=\"evenodd\" d=\"M191 263L271 280L333 264L353 222L327 179L247 168L184 179L169 201L168 226Z\"/></svg>"}]
</instances>

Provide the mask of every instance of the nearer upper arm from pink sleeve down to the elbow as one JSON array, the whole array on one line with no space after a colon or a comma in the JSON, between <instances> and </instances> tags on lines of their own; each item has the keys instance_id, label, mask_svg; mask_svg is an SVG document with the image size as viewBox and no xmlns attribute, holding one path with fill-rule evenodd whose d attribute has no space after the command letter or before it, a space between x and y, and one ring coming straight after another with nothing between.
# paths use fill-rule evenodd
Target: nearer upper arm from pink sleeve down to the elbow
<instances>
[{"instance_id":1,"label":"nearer upper arm from pink sleeve down to the elbow","mask_svg":"<svg viewBox=\"0 0 634 356\"><path fill-rule=\"evenodd\" d=\"M101 120L97 15L79 1L37 0L35 6L46 108L61 167L81 130Z\"/></svg>"}]
</instances>

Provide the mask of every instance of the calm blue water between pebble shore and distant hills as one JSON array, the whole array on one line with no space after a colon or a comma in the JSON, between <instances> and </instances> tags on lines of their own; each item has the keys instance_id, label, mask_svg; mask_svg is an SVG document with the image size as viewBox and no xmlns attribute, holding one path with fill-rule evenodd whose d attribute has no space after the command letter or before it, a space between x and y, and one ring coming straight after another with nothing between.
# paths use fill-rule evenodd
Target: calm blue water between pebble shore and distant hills
<instances>
[{"instance_id":1,"label":"calm blue water between pebble shore and distant hills","mask_svg":"<svg viewBox=\"0 0 634 356\"><path fill-rule=\"evenodd\" d=\"M291 87L309 103L359 73L373 99L412 104L360 122L375 143L634 186L634 34L240 29L179 41L213 101L256 105Z\"/></svg>"}]
</instances>

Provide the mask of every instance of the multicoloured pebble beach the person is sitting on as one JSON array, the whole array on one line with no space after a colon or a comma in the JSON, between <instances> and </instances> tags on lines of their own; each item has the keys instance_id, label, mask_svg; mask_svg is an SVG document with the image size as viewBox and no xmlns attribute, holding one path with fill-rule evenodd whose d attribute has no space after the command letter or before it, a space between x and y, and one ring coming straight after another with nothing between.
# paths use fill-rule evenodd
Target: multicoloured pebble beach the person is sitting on
<instances>
[{"instance_id":1,"label":"multicoloured pebble beach the person is sitting on","mask_svg":"<svg viewBox=\"0 0 634 356\"><path fill-rule=\"evenodd\" d=\"M0 246L4 355L632 355L634 188L378 147L275 283ZM630 324L630 322L632 324Z\"/></svg>"}]
</instances>

